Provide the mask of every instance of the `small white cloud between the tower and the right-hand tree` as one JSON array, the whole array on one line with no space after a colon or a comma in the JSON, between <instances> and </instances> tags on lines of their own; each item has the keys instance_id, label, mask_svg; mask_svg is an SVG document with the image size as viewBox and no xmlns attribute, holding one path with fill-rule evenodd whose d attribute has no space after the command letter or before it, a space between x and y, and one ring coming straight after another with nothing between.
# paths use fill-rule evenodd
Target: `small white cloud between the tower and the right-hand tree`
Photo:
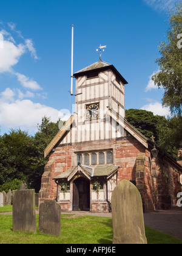
<instances>
[{"instance_id":1,"label":"small white cloud between the tower and the right-hand tree","mask_svg":"<svg viewBox=\"0 0 182 256\"><path fill-rule=\"evenodd\" d=\"M141 109L153 112L153 115L166 116L166 117L170 116L169 107L163 107L163 105L160 104L159 102L146 104L143 107L141 107Z\"/></svg>"}]
</instances>

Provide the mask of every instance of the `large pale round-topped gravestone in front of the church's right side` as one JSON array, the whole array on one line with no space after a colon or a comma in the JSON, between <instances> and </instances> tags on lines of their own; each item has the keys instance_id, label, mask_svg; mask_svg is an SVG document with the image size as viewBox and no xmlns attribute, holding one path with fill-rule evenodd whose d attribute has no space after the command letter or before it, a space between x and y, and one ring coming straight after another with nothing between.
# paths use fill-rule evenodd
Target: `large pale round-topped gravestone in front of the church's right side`
<instances>
[{"instance_id":1,"label":"large pale round-topped gravestone in front of the church's right side","mask_svg":"<svg viewBox=\"0 0 182 256\"><path fill-rule=\"evenodd\" d=\"M138 189L122 180L112 193L113 244L146 244L143 206Z\"/></svg>"}]
</instances>

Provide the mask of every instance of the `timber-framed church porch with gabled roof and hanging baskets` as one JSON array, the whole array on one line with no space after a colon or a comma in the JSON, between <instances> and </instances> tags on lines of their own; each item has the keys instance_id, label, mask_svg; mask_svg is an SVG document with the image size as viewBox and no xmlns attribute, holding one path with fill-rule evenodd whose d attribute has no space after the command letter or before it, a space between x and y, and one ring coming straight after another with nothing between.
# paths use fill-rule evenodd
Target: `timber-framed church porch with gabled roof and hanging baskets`
<instances>
[{"instance_id":1,"label":"timber-framed church porch with gabled roof and hanging baskets","mask_svg":"<svg viewBox=\"0 0 182 256\"><path fill-rule=\"evenodd\" d=\"M118 166L92 168L79 164L55 177L57 201L61 204L62 212L110 212L117 171Z\"/></svg>"}]
</instances>

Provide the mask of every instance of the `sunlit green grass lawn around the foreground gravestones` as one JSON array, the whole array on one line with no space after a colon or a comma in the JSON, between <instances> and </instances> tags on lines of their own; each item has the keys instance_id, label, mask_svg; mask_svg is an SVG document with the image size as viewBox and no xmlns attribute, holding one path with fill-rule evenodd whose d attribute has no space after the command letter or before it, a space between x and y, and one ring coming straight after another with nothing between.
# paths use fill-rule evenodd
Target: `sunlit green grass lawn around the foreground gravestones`
<instances>
[{"instance_id":1,"label":"sunlit green grass lawn around the foreground gravestones","mask_svg":"<svg viewBox=\"0 0 182 256\"><path fill-rule=\"evenodd\" d=\"M0 215L0 244L112 244L112 218L61 215L61 236L13 232L12 215ZM148 244L182 244L174 236L146 227Z\"/></svg>"}]
</instances>

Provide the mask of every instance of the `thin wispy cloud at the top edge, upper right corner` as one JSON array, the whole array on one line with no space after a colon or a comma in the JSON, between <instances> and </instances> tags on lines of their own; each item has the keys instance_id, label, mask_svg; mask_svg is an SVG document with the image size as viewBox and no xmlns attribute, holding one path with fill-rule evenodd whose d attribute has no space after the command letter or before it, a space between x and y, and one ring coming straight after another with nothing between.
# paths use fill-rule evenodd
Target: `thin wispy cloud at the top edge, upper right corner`
<instances>
[{"instance_id":1,"label":"thin wispy cloud at the top edge, upper right corner","mask_svg":"<svg viewBox=\"0 0 182 256\"><path fill-rule=\"evenodd\" d=\"M177 0L143 0L146 4L150 5L155 10L173 9Z\"/></svg>"}]
</instances>

